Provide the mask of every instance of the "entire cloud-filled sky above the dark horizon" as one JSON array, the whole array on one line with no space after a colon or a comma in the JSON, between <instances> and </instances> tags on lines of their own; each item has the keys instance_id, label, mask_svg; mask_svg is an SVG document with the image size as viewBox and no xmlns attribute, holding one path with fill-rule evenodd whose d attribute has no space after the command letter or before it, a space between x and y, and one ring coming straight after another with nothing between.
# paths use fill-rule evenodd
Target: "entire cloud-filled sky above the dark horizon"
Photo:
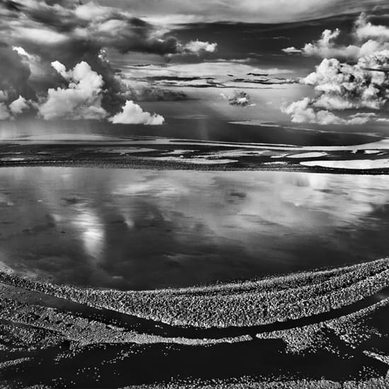
<instances>
[{"instance_id":1,"label":"entire cloud-filled sky above the dark horizon","mask_svg":"<svg viewBox=\"0 0 389 389\"><path fill-rule=\"evenodd\" d=\"M385 0L1 0L0 129L389 123Z\"/></svg>"}]
</instances>

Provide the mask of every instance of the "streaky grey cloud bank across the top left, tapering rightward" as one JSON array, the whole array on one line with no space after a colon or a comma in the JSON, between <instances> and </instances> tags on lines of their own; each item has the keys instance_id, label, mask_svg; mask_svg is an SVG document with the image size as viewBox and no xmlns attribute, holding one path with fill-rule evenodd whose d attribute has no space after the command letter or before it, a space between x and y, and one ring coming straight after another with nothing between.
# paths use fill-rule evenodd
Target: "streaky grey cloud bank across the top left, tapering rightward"
<instances>
[{"instance_id":1,"label":"streaky grey cloud bank across the top left, tapering rightward","mask_svg":"<svg viewBox=\"0 0 389 389\"><path fill-rule=\"evenodd\" d=\"M44 46L40 48L44 51L48 46L50 50L58 51L76 43L83 45L84 50L90 45L93 50L110 47L123 53L139 51L165 55L190 52L190 44L193 45L193 42L182 45L177 38L166 35L168 30L157 28L130 13L93 2L25 0L17 12L4 9L5 12L0 11L1 30L11 33L12 40L19 45L36 50ZM196 48L193 52L197 53Z\"/></svg>"}]
</instances>

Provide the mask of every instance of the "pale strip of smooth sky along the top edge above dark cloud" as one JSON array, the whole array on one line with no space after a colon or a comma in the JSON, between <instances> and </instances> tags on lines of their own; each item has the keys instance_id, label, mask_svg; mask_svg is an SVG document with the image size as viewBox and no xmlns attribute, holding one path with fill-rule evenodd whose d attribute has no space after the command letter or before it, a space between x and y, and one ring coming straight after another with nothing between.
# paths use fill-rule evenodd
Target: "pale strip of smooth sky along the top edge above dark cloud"
<instances>
[{"instance_id":1,"label":"pale strip of smooth sky along the top edge above dark cloud","mask_svg":"<svg viewBox=\"0 0 389 389\"><path fill-rule=\"evenodd\" d=\"M110 6L112 0L100 4ZM117 6L156 23L289 23L378 10L384 0L119 0ZM387 4L387 3L386 3Z\"/></svg>"}]
</instances>

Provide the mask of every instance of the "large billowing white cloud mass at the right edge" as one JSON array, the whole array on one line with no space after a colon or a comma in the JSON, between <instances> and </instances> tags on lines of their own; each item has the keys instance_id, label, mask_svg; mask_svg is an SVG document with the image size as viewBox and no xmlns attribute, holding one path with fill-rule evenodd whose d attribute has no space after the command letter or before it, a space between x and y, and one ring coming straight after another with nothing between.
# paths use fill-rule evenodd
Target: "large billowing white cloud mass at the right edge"
<instances>
[{"instance_id":1,"label":"large billowing white cloud mass at the right edge","mask_svg":"<svg viewBox=\"0 0 389 389\"><path fill-rule=\"evenodd\" d=\"M317 97L303 98L283 108L293 122L364 124L370 120L383 121L373 112L358 112L343 119L331 111L381 110L388 103L389 28L373 25L361 14L354 26L356 45L338 45L339 35L339 29L325 30L320 40L303 48L303 54L324 59L315 71L301 79L301 83L315 89ZM355 63L340 62L339 58L354 59Z\"/></svg>"}]
</instances>

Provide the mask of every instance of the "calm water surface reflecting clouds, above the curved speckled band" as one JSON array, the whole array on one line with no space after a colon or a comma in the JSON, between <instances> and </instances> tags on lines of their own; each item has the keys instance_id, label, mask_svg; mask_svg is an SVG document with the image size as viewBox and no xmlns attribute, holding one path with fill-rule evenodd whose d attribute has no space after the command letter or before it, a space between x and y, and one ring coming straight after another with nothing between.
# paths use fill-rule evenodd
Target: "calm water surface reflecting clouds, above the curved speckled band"
<instances>
[{"instance_id":1,"label":"calm water surface reflecting clouds, above the curved speckled band","mask_svg":"<svg viewBox=\"0 0 389 389\"><path fill-rule=\"evenodd\" d=\"M1 168L0 261L59 283L153 289L389 255L389 177Z\"/></svg>"}]
</instances>

